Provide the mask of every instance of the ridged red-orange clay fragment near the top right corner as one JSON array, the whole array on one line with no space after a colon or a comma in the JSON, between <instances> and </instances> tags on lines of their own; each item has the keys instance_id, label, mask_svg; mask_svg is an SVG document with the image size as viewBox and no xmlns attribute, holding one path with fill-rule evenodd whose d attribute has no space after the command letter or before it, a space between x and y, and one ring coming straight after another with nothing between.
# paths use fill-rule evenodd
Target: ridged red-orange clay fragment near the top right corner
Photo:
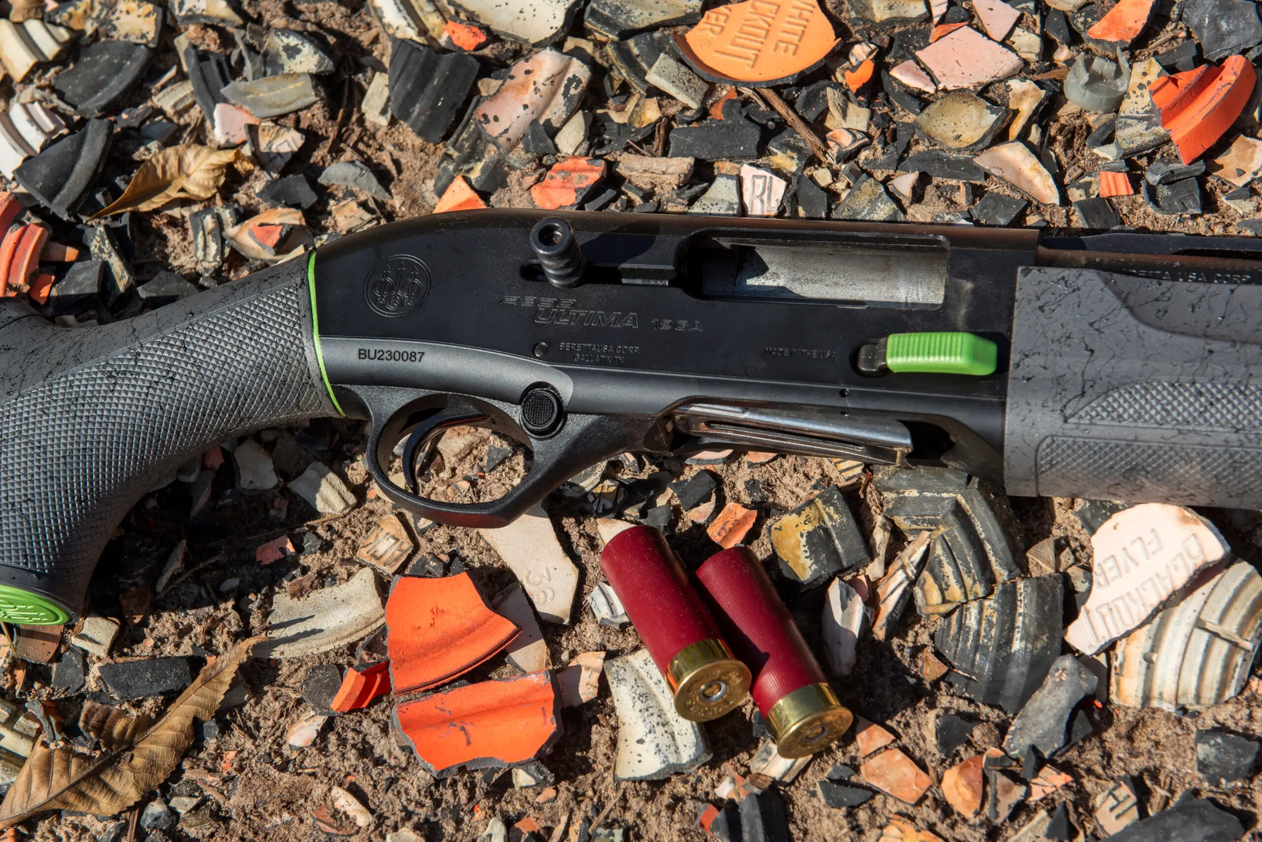
<instances>
[{"instance_id":1,"label":"ridged red-orange clay fragment near the top right corner","mask_svg":"<svg viewBox=\"0 0 1262 842\"><path fill-rule=\"evenodd\" d=\"M1164 76L1152 83L1152 103L1161 111L1161 127L1190 164L1223 136L1257 84L1257 73L1243 55L1222 67L1206 64L1186 73Z\"/></svg>"}]
</instances>

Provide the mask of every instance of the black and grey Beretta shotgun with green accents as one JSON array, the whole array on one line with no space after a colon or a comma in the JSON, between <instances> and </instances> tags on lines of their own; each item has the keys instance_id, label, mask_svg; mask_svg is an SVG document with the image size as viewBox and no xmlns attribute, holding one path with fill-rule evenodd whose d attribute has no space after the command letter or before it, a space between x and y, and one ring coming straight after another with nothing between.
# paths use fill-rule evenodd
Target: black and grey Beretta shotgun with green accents
<instances>
[{"instance_id":1,"label":"black and grey Beretta shotgun with green accents","mask_svg":"<svg viewBox=\"0 0 1262 842\"><path fill-rule=\"evenodd\" d=\"M495 528L625 451L948 465L1262 508L1262 241L630 213L381 226L140 316L0 304L0 619L82 611L127 510L232 436L369 424L398 505ZM444 430L529 449L424 497Z\"/></svg>"}]
</instances>

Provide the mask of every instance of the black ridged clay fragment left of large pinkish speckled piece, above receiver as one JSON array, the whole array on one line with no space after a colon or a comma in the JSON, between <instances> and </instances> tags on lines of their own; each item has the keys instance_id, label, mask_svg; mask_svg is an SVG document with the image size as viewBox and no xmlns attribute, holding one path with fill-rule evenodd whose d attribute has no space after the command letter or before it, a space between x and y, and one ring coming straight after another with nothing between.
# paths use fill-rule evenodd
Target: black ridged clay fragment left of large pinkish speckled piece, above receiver
<instances>
[{"instance_id":1,"label":"black ridged clay fragment left of large pinkish speckled piece, above receiver","mask_svg":"<svg viewBox=\"0 0 1262 842\"><path fill-rule=\"evenodd\" d=\"M439 54L410 40L396 40L390 53L390 113L422 140L437 144L447 136L477 73L472 55Z\"/></svg>"}]
</instances>

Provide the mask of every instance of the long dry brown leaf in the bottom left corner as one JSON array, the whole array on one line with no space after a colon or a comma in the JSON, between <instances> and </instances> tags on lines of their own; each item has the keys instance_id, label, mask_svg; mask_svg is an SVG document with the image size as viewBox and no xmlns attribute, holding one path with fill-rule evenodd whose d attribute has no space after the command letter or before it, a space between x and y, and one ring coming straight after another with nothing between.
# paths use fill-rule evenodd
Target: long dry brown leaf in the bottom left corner
<instances>
[{"instance_id":1,"label":"long dry brown leaf in the bottom left corner","mask_svg":"<svg viewBox=\"0 0 1262 842\"><path fill-rule=\"evenodd\" d=\"M138 720L121 711L114 711L117 716L112 724L109 711L103 718L90 718L90 724L97 721L102 741L109 739L117 745L103 756L91 758L68 747L50 749L44 740L37 741L0 804L0 827L50 809L114 816L135 804L175 769L193 744L193 722L204 722L215 716L241 660L255 643L264 639L242 640L207 664L162 718L135 742L117 742L140 730L135 726Z\"/></svg>"}]
</instances>

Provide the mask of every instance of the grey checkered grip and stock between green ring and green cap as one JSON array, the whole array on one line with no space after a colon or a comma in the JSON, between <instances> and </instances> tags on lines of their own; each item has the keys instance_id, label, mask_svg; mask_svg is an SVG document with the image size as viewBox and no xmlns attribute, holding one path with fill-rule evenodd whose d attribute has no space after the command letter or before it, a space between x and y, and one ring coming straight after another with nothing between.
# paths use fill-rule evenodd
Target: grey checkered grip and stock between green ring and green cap
<instances>
[{"instance_id":1,"label":"grey checkered grip and stock between green ring and green cap","mask_svg":"<svg viewBox=\"0 0 1262 842\"><path fill-rule=\"evenodd\" d=\"M0 582L78 610L110 534L162 478L230 436L333 413L303 268L103 328L0 328ZM61 362L28 382L24 352Z\"/></svg>"}]
</instances>

